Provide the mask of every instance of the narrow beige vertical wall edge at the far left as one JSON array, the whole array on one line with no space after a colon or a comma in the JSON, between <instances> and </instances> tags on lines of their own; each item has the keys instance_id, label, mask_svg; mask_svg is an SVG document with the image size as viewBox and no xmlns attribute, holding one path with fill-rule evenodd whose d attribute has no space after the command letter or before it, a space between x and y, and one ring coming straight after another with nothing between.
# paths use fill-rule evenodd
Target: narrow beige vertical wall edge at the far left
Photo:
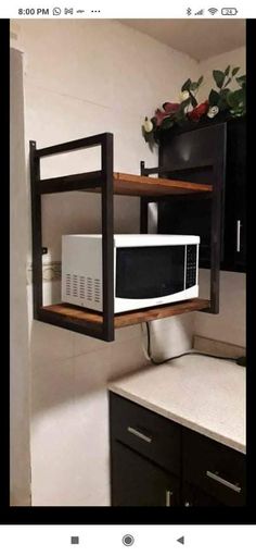
<instances>
[{"instance_id":1,"label":"narrow beige vertical wall edge at the far left","mask_svg":"<svg viewBox=\"0 0 256 556\"><path fill-rule=\"evenodd\" d=\"M22 52L11 50L11 346L10 475L11 505L30 504L29 350L26 299L27 198L24 150Z\"/></svg>"}]
</instances>

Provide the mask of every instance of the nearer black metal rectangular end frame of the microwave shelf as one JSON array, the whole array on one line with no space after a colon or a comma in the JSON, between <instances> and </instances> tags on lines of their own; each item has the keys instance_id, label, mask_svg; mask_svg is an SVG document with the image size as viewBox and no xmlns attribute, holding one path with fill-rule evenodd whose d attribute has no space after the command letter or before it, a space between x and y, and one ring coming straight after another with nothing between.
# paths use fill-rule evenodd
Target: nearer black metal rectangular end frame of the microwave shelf
<instances>
[{"instance_id":1,"label":"nearer black metal rectangular end frame of the microwave shelf","mask_svg":"<svg viewBox=\"0 0 256 556\"><path fill-rule=\"evenodd\" d=\"M31 182L31 226L33 226L33 299L34 318L57 326L98 337L106 342L114 339L114 246L113 246L113 134L103 133L74 141L37 149L36 141L30 145ZM40 160L43 157L69 152L90 147L101 148L101 170L68 176L40 178ZM103 321L101 326L90 322L68 323L57 314L42 316L42 230L41 196L44 194L85 190L101 187L102 211L102 284Z\"/></svg>"}]
</instances>

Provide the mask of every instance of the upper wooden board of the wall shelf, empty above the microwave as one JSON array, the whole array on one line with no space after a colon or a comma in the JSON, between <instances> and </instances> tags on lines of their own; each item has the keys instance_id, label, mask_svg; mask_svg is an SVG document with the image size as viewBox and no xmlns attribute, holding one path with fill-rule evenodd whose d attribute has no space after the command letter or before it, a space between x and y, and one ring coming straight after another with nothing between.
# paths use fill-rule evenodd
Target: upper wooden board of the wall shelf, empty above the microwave
<instances>
[{"instance_id":1,"label":"upper wooden board of the wall shelf, empty above the microwave","mask_svg":"<svg viewBox=\"0 0 256 556\"><path fill-rule=\"evenodd\" d=\"M133 197L163 197L165 195L183 195L191 193L209 193L212 185L180 182L165 177L149 177L136 174L113 173L114 194ZM102 172L63 175L38 181L39 193L61 193L65 190L85 190L101 193Z\"/></svg>"}]
</instances>

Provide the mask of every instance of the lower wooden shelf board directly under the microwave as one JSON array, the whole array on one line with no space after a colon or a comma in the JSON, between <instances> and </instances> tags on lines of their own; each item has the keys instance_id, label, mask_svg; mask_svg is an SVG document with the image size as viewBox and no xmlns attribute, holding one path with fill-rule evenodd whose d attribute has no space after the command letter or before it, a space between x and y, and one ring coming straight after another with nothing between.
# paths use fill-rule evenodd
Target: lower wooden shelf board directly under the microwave
<instances>
[{"instance_id":1,"label":"lower wooden shelf board directly under the microwave","mask_svg":"<svg viewBox=\"0 0 256 556\"><path fill-rule=\"evenodd\" d=\"M114 318L114 323L115 329L120 329L131 324L139 324L141 322L175 317L176 314L181 314L183 312L201 311L202 309L207 308L209 308L209 300L200 299L196 297L177 304L165 306L162 305L157 307L151 307L150 309L141 309L139 311L120 313ZM95 329L100 329L103 322L102 316L100 313L69 304L57 304L41 307L40 320L43 321L46 319L46 321L49 322L49 319L52 320L51 318L53 316L55 324L57 324L59 321L60 324L61 322L66 322L69 325L73 323L76 325L79 324L81 326L82 324L90 324Z\"/></svg>"}]
</instances>

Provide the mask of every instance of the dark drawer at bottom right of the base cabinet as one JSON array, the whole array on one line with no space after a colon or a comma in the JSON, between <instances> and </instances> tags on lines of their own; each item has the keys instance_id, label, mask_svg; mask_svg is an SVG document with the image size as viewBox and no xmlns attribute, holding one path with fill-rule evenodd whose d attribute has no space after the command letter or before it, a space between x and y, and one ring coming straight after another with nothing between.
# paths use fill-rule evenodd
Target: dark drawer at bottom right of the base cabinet
<instances>
[{"instance_id":1,"label":"dark drawer at bottom right of the base cabinet","mask_svg":"<svg viewBox=\"0 0 256 556\"><path fill-rule=\"evenodd\" d=\"M245 456L183 431L183 478L227 506L245 505Z\"/></svg>"}]
</instances>

